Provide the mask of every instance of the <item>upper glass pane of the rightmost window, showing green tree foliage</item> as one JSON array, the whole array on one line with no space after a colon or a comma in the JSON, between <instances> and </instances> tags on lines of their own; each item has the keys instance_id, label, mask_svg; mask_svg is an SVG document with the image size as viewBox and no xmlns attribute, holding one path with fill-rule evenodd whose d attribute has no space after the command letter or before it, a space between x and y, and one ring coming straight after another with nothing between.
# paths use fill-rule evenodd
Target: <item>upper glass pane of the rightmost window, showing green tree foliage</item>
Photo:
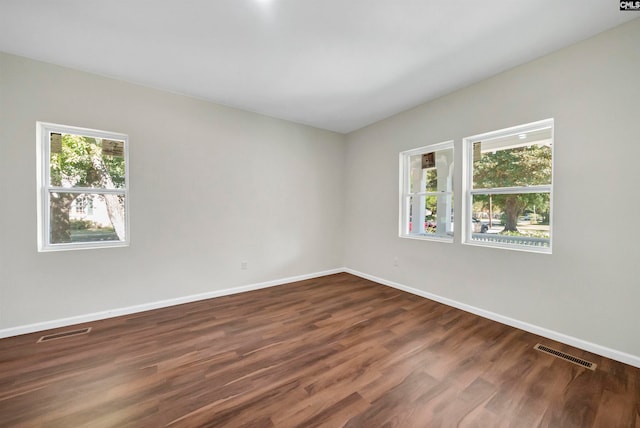
<instances>
[{"instance_id":1,"label":"upper glass pane of the rightmost window, showing green tree foliage","mask_svg":"<svg viewBox=\"0 0 640 428\"><path fill-rule=\"evenodd\" d=\"M473 142L473 188L551 184L551 128Z\"/></svg>"}]
</instances>

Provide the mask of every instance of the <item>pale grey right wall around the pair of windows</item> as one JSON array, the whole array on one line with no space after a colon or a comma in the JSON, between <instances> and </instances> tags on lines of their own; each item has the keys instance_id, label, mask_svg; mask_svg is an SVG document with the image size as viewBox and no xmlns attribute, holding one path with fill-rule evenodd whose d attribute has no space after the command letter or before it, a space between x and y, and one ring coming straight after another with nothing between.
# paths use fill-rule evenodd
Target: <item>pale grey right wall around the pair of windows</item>
<instances>
[{"instance_id":1,"label":"pale grey right wall around the pair of windows","mask_svg":"<svg viewBox=\"0 0 640 428\"><path fill-rule=\"evenodd\" d=\"M634 20L350 134L345 266L640 356L639 103ZM552 255L398 238L400 151L454 139L460 207L462 138L547 118Z\"/></svg>"}]
</instances>

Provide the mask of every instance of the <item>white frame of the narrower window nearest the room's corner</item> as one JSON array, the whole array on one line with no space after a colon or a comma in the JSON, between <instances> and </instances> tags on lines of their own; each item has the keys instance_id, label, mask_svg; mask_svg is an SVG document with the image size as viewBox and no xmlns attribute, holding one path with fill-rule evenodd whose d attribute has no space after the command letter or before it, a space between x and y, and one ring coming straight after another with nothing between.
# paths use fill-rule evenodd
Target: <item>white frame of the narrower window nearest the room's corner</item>
<instances>
[{"instance_id":1,"label":"white frame of the narrower window nearest the room's corner","mask_svg":"<svg viewBox=\"0 0 640 428\"><path fill-rule=\"evenodd\" d=\"M451 149L453 151L453 168L455 171L455 148L453 140L445 141L442 143L431 144L424 147L419 147L417 149L406 150L404 152L400 152L400 203L399 203L399 224L398 224L398 236L401 238L408 239L418 239L424 241L438 241L438 242L447 242L453 243L454 233L452 230L451 236L444 235L435 235L435 234L415 234L409 233L409 213L410 213L410 204L409 199L411 196L442 196L442 195L451 195L451 198L455 201L455 192L453 186L451 187L451 191L449 192L410 192L410 179L409 175L411 174L411 166L410 166L410 158L411 156L421 155L431 152L437 152L439 150L448 150ZM455 172L452 174L452 178L455 176ZM452 212L449 214L453 214ZM446 215L446 214L445 214ZM452 221L452 220L451 220ZM416 223L418 224L418 223ZM452 225L453 227L453 225Z\"/></svg>"}]
</instances>

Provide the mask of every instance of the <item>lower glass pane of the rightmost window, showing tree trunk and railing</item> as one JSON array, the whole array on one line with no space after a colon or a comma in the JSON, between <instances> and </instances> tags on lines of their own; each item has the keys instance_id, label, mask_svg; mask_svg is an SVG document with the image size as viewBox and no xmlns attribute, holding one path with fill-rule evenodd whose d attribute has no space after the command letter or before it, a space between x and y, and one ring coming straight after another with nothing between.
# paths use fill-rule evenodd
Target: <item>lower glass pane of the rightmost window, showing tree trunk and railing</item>
<instances>
[{"instance_id":1,"label":"lower glass pane of the rightmost window, showing tree trunk and railing","mask_svg":"<svg viewBox=\"0 0 640 428\"><path fill-rule=\"evenodd\" d=\"M550 194L473 195L471 240L548 247Z\"/></svg>"}]
</instances>

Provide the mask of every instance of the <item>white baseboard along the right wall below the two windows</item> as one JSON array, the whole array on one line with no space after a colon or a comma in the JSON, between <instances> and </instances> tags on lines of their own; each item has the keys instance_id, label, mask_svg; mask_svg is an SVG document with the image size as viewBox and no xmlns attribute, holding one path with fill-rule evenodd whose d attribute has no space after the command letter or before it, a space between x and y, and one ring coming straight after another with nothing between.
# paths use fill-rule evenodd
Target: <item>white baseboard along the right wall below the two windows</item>
<instances>
[{"instance_id":1,"label":"white baseboard along the right wall below the two windows","mask_svg":"<svg viewBox=\"0 0 640 428\"><path fill-rule=\"evenodd\" d=\"M574 346L579 349L583 349L594 354L602 355L603 357L611 358L612 360L620 361L625 364L629 364L634 367L640 368L640 357L637 355L627 354L625 352L617 351L615 349L607 348L586 340L578 339L577 337L568 336L557 331L549 330L544 327L529 324L517 319L509 318L504 315L497 314L495 312L486 311L484 309L476 308L475 306L467 305L465 303L458 302L456 300L448 299L446 297L438 296L427 291L418 290L416 288L408 287L397 282L389 281L377 276L369 275L366 273L358 272L353 269L345 268L345 272L355 276L359 276L364 279L368 279L379 284L387 285L389 287L397 288L398 290L406 291L407 293L415 294L417 296L425 297L429 300L433 300L439 303L443 303L447 306L452 306L457 309L461 309L465 312L470 312L475 315L479 315L483 318L488 318L493 321L497 321L501 324L506 324L511 327L518 328L520 330L528 331L529 333L537 334L539 336L546 337L567 345Z\"/></svg>"}]
</instances>

